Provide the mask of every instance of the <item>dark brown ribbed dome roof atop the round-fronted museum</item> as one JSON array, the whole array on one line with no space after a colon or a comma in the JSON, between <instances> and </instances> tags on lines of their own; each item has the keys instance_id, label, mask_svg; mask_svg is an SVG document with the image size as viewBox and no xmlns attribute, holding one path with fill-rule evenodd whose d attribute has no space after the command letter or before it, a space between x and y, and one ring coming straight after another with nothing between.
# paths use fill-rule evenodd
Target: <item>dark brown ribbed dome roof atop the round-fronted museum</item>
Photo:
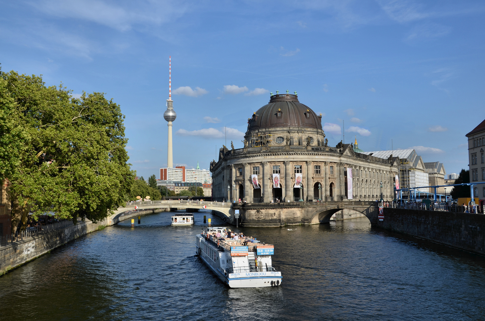
<instances>
[{"instance_id":1,"label":"dark brown ribbed dome roof atop the round-fronted museum","mask_svg":"<svg viewBox=\"0 0 485 321\"><path fill-rule=\"evenodd\" d=\"M296 92L295 92L296 93ZM313 128L322 129L322 114L317 115L298 101L297 95L272 95L267 105L259 108L248 119L248 130L264 128Z\"/></svg>"}]
</instances>

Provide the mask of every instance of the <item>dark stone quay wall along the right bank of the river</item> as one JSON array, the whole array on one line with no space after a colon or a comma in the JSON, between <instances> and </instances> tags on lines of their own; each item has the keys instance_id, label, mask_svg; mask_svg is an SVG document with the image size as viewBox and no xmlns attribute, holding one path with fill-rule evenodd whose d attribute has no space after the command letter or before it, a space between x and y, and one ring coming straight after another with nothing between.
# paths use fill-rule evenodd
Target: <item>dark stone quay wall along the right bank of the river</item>
<instances>
[{"instance_id":1,"label":"dark stone quay wall along the right bank of the river","mask_svg":"<svg viewBox=\"0 0 485 321\"><path fill-rule=\"evenodd\" d=\"M375 226L485 255L485 215L384 208Z\"/></svg>"}]
</instances>

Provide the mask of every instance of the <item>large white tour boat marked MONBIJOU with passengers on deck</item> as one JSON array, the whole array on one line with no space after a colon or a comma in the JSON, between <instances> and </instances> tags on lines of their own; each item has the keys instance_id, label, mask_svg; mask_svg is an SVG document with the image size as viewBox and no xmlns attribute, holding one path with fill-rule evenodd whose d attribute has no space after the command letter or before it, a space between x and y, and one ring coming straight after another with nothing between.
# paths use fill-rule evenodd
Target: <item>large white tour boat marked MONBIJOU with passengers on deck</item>
<instances>
[{"instance_id":1,"label":"large white tour boat marked MONBIJOU with passengers on deck","mask_svg":"<svg viewBox=\"0 0 485 321\"><path fill-rule=\"evenodd\" d=\"M208 227L195 236L196 253L210 270L230 288L279 286L281 272L271 263L274 245L224 238L227 232L226 227Z\"/></svg>"}]
</instances>

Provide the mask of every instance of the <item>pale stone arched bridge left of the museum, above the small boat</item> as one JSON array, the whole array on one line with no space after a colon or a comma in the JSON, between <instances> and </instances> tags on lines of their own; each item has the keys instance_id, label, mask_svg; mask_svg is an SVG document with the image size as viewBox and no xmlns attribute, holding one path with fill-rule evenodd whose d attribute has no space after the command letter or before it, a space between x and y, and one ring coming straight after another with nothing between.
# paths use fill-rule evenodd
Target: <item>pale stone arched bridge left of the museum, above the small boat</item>
<instances>
[{"instance_id":1,"label":"pale stone arched bridge left of the museum, above the small boat","mask_svg":"<svg viewBox=\"0 0 485 321\"><path fill-rule=\"evenodd\" d=\"M135 206L137 206L138 209L135 209ZM138 215L175 211L179 209L210 209L215 211L215 214L221 218L228 220L230 223L232 223L231 217L234 217L234 211L231 209L230 203L192 200L161 200L126 203L124 207L116 209L114 214L108 217L107 224L117 224Z\"/></svg>"}]
</instances>

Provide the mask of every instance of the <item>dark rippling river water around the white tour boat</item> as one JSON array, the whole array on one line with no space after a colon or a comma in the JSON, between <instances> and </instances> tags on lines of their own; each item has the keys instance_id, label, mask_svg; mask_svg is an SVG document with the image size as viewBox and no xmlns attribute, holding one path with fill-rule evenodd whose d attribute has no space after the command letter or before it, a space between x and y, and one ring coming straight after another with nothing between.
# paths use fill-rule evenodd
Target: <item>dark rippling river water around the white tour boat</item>
<instances>
[{"instance_id":1,"label":"dark rippling river water around the white tour boat","mask_svg":"<svg viewBox=\"0 0 485 321\"><path fill-rule=\"evenodd\" d=\"M485 258L367 218L240 228L275 244L275 288L229 289L171 213L85 235L0 277L0 320L484 320ZM237 230L237 229L236 229Z\"/></svg>"}]
</instances>

